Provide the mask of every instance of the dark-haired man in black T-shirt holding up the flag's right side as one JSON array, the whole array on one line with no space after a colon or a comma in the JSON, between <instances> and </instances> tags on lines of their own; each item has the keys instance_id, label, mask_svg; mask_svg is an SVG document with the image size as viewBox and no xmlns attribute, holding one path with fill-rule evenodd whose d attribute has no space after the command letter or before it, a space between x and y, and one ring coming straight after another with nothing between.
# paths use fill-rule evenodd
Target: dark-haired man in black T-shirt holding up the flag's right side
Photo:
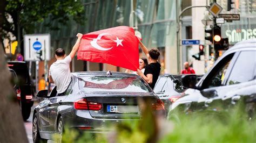
<instances>
[{"instance_id":1,"label":"dark-haired man in black T-shirt holding up the flag's right side","mask_svg":"<svg viewBox=\"0 0 256 143\"><path fill-rule=\"evenodd\" d=\"M156 85L161 69L160 63L157 62L160 53L158 49L151 49L149 51L141 41L139 41L139 46L142 47L142 51L146 54L150 64L145 67L144 74L140 69L137 69L137 74L149 83L152 89L154 89L154 85Z\"/></svg>"}]
</instances>

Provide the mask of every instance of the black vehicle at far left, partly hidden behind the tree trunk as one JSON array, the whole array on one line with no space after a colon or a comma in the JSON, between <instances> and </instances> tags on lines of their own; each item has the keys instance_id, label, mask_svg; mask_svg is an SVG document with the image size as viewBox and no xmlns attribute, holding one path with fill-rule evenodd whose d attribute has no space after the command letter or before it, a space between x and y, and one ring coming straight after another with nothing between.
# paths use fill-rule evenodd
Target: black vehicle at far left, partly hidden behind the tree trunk
<instances>
[{"instance_id":1,"label":"black vehicle at far left, partly hidden behind the tree trunk","mask_svg":"<svg viewBox=\"0 0 256 143\"><path fill-rule=\"evenodd\" d=\"M18 97L18 99L20 99L23 120L27 120L30 116L31 106L33 105L33 94L28 65L26 62L22 61L8 61L7 66L14 70L17 75L17 84L21 92L20 98Z\"/></svg>"}]
</instances>

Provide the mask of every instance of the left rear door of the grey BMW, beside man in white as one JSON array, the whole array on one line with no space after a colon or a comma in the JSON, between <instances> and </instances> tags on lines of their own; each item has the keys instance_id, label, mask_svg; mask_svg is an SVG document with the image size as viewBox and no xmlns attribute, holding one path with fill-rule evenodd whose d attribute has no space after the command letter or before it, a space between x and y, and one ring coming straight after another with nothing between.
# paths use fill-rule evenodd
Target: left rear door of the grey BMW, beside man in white
<instances>
[{"instance_id":1,"label":"left rear door of the grey BMW, beside man in white","mask_svg":"<svg viewBox=\"0 0 256 143\"><path fill-rule=\"evenodd\" d=\"M61 110L60 106L62 106L63 102L65 101L65 98L69 95L69 92L73 85L73 78L71 78L71 82L69 83L68 89L65 91L65 94L63 96L56 96L49 99L50 103L48 104L48 118L49 118L49 132L56 132L56 124L57 124L57 117L58 113Z\"/></svg>"}]
</instances>

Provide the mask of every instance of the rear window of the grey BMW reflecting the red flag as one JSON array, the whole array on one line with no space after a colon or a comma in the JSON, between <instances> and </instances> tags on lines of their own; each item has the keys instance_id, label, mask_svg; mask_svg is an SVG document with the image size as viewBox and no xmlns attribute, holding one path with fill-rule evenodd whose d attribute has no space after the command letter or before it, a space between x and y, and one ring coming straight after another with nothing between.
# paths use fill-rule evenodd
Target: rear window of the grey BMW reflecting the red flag
<instances>
[{"instance_id":1,"label":"rear window of the grey BMW reflecting the red flag","mask_svg":"<svg viewBox=\"0 0 256 143\"><path fill-rule=\"evenodd\" d=\"M85 92L150 92L149 86L136 77L85 76L79 78L79 89Z\"/></svg>"}]
</instances>

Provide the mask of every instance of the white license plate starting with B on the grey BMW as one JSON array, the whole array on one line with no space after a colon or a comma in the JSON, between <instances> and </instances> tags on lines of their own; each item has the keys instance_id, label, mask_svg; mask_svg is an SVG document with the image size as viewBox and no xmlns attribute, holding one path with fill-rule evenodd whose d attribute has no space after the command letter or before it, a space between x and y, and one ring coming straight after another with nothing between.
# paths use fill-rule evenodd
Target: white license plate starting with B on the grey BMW
<instances>
[{"instance_id":1,"label":"white license plate starting with B on the grey BMW","mask_svg":"<svg viewBox=\"0 0 256 143\"><path fill-rule=\"evenodd\" d=\"M107 112L115 113L138 113L138 106L112 106L107 105Z\"/></svg>"}]
</instances>

